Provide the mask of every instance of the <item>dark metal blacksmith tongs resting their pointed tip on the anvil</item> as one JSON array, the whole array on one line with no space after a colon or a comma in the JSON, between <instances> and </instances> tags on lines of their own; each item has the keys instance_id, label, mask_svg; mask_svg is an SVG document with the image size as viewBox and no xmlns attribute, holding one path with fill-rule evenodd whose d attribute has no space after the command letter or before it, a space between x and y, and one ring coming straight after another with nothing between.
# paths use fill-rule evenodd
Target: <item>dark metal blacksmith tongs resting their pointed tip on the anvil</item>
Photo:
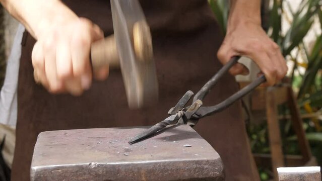
<instances>
[{"instance_id":1,"label":"dark metal blacksmith tongs resting their pointed tip on the anvil","mask_svg":"<svg viewBox=\"0 0 322 181\"><path fill-rule=\"evenodd\" d=\"M193 99L193 103L190 106L185 106L190 98L194 95L192 91L188 91L184 94L184 96L180 99L180 101L175 105L175 107L171 108L168 112L169 116L165 120L157 123L151 128L143 131L136 137L132 138L128 143L133 144L138 141L141 141L145 138L156 135L163 129L165 129L168 125L180 125L180 124L188 124L190 126L195 126L198 123L198 120L218 113L230 105L232 105L235 101L239 100L249 92L251 92L254 88L259 86L260 84L266 81L264 75L261 75L253 82L240 89L237 93L233 94L225 101L209 107L202 107L203 99L206 95L211 91L211 88L218 82L218 80L234 65L237 63L240 57L233 57L228 63L226 63L196 94Z\"/></svg>"}]
</instances>

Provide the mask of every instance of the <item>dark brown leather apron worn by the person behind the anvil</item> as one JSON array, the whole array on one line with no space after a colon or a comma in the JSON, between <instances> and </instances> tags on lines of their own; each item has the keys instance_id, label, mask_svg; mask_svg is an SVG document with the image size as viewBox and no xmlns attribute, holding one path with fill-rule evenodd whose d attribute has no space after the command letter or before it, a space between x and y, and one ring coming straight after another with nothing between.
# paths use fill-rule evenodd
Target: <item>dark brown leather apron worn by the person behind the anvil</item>
<instances>
[{"instance_id":1,"label":"dark brown leather apron worn by the person behind the anvil","mask_svg":"<svg viewBox=\"0 0 322 181\"><path fill-rule=\"evenodd\" d=\"M65 1L76 14L112 33L110 4L104 0ZM22 42L18 88L18 123L12 180L29 180L33 147L42 131L153 125L188 90L197 92L221 67L216 52L223 40L206 0L142 1L151 26L160 101L144 110L129 110L119 70L106 81L94 81L81 97L51 95L33 79L31 52L35 40ZM225 75L206 97L214 105L237 91ZM240 103L200 120L195 129L221 155L226 180L259 180L251 159Z\"/></svg>"}]
</instances>

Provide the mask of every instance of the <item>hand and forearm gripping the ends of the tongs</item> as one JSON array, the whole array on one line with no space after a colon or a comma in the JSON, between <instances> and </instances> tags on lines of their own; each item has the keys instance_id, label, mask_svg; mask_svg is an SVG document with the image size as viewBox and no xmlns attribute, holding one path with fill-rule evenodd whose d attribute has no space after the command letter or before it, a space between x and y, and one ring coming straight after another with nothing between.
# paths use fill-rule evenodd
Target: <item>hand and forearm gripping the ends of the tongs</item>
<instances>
[{"instance_id":1,"label":"hand and forearm gripping the ends of the tongs","mask_svg":"<svg viewBox=\"0 0 322 181\"><path fill-rule=\"evenodd\" d=\"M257 0L231 1L226 37L217 56L225 64L233 56L246 56L262 70L269 85L274 85L287 73L287 66L279 46L261 27L260 2ZM248 69L237 63L230 73L248 74Z\"/></svg>"}]
</instances>

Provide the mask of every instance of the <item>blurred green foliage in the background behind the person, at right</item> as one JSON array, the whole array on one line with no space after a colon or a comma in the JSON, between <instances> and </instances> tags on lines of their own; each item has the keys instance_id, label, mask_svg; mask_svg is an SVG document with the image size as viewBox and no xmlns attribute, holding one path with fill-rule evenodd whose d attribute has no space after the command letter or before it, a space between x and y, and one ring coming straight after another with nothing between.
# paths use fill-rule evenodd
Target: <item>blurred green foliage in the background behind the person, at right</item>
<instances>
[{"instance_id":1,"label":"blurred green foliage in the background behind the person, at right","mask_svg":"<svg viewBox=\"0 0 322 181\"><path fill-rule=\"evenodd\" d=\"M296 10L291 1L262 1L262 26L267 34L280 46L288 61L292 88L297 94L306 137L310 143L312 154L319 165L322 165L322 35L316 33L315 41L304 42L305 37L313 29L313 25L322 26L321 0L303 0ZM229 1L209 0L214 14L226 32L229 14ZM289 26L283 26L287 21ZM291 66L290 66L291 65ZM280 115L289 115L286 106L280 106ZM300 150L297 137L292 130L289 119L281 119L280 130L284 154L298 155ZM247 131L253 153L270 153L268 128L266 121L261 124L247 124ZM262 180L270 178L270 170L259 168Z\"/></svg>"}]
</instances>

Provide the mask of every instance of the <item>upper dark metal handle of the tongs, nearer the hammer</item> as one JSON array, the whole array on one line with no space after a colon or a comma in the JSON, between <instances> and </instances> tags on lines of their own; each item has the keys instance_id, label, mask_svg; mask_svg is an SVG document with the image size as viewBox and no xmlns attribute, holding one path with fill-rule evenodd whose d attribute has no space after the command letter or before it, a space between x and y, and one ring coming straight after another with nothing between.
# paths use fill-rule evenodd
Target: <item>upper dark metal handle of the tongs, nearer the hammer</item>
<instances>
[{"instance_id":1,"label":"upper dark metal handle of the tongs, nearer the hammer","mask_svg":"<svg viewBox=\"0 0 322 181\"><path fill-rule=\"evenodd\" d=\"M226 63L201 89L200 91L196 94L194 97L194 101L201 100L203 101L204 98L207 96L207 94L210 92L210 90L216 85L218 80L226 73L228 70L234 66L238 60L239 56L234 56L229 60L228 63Z\"/></svg>"}]
</instances>

